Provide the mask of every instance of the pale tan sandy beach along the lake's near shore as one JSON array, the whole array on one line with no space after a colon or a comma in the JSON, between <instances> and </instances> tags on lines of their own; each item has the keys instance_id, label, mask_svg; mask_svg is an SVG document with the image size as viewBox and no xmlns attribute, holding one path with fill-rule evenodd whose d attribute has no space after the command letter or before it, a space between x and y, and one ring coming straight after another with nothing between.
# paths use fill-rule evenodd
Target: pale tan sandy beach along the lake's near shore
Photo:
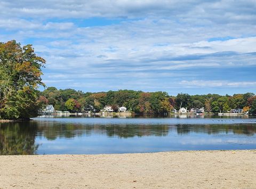
<instances>
[{"instance_id":1,"label":"pale tan sandy beach along the lake's near shore","mask_svg":"<svg viewBox=\"0 0 256 189\"><path fill-rule=\"evenodd\" d=\"M256 188L256 150L0 156L0 188Z\"/></svg>"}]
</instances>

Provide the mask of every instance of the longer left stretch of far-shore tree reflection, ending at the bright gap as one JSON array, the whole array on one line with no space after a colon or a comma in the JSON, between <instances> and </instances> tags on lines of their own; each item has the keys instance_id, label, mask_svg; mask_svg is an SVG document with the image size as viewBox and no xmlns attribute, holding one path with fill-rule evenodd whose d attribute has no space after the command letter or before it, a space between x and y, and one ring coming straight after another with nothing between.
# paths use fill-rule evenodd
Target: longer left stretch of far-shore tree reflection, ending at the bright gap
<instances>
[{"instance_id":1,"label":"longer left stretch of far-shore tree reflection, ending at the bright gap","mask_svg":"<svg viewBox=\"0 0 256 189\"><path fill-rule=\"evenodd\" d=\"M70 123L45 122L39 125L38 136L49 140L59 138L74 138L82 135L90 136L92 133L107 135L108 137L128 138L134 136L166 136L168 125L132 125L132 124L105 124L83 125Z\"/></svg>"}]
</instances>

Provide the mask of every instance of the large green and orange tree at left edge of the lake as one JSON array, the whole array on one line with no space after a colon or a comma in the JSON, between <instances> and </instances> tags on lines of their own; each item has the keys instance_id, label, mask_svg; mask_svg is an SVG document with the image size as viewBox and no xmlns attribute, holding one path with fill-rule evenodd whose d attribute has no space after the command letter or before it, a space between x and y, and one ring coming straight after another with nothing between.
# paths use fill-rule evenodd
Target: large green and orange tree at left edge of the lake
<instances>
[{"instance_id":1,"label":"large green and orange tree at left edge of the lake","mask_svg":"<svg viewBox=\"0 0 256 189\"><path fill-rule=\"evenodd\" d=\"M15 40L0 43L0 119L37 115L38 85L42 83L45 60L36 56L32 45L21 47Z\"/></svg>"}]
</instances>

